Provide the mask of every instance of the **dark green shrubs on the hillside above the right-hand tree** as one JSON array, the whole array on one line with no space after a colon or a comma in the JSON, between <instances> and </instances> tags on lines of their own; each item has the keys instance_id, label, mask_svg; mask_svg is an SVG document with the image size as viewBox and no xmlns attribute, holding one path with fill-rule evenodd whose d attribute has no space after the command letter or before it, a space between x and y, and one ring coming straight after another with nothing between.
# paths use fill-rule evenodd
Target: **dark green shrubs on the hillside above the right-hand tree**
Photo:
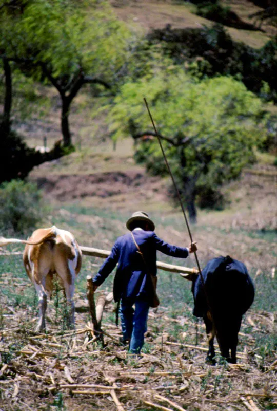
<instances>
[{"instance_id":1,"label":"dark green shrubs on the hillside above the right-hand tree","mask_svg":"<svg viewBox=\"0 0 277 411\"><path fill-rule=\"evenodd\" d=\"M236 26L238 26L236 24ZM232 40L221 24L199 29L154 29L148 34L150 44L159 43L165 55L178 64L202 63L202 77L220 74L240 74L246 87L265 97L264 82L268 82L267 101L277 100L277 38L260 49ZM200 60L201 58L201 60Z\"/></svg>"}]
</instances>

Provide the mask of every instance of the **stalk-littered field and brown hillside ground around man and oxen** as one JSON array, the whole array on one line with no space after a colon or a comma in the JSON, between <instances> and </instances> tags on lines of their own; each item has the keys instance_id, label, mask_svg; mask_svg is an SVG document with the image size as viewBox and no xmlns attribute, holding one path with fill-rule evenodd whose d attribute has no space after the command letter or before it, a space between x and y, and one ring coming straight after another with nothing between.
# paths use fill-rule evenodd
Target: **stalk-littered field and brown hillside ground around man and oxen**
<instances>
[{"instance_id":1,"label":"stalk-littered field and brown hillside ground around man and oxen","mask_svg":"<svg viewBox=\"0 0 277 411\"><path fill-rule=\"evenodd\" d=\"M247 2L230 3L246 16ZM185 22L187 27L203 24L189 4L124 0L112 4L120 18L139 24L139 30L167 22L176 26ZM266 30L230 32L260 47L274 28ZM31 146L42 145L44 136L49 146L61 138L60 105L52 89L47 93L51 100L47 119L31 118L17 125ZM72 107L76 151L30 174L49 206L42 226L70 230L81 246L110 250L116 237L126 232L130 214L145 210L155 221L157 235L188 246L183 215L168 195L169 179L150 177L134 163L131 138L114 146L106 137L105 117L92 119L90 103L84 89ZM67 329L66 305L56 284L47 308L47 332L34 332L37 297L24 271L23 247L7 247L0 254L0 410L277 409L276 167L273 155L258 154L258 160L239 180L224 186L227 207L197 210L197 224L191 227L201 267L210 258L230 255L246 264L254 280L255 300L239 334L238 364L227 364L219 354L217 365L205 364L205 327L192 315L191 283L162 270L157 288L161 306L150 309L142 358L128 358L126 347L120 345L114 303L104 312L104 345L95 341L86 276L94 275L103 263L96 257L83 257L77 277L76 330ZM181 261L159 254L158 259L190 268L196 265L194 257ZM113 274L96 295L111 291L112 281Z\"/></svg>"}]
</instances>

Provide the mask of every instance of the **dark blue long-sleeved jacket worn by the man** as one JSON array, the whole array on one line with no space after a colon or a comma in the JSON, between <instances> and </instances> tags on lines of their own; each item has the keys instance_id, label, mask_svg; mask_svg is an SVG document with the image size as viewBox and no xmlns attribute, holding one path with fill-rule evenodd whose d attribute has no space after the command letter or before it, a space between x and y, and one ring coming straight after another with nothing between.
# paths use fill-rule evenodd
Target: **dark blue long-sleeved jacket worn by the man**
<instances>
[{"instance_id":1,"label":"dark blue long-sleeved jacket worn by the man","mask_svg":"<svg viewBox=\"0 0 277 411\"><path fill-rule=\"evenodd\" d=\"M93 278L93 283L100 286L118 263L113 283L115 302L121 298L132 302L137 297L146 301L151 300L153 288L149 274L157 274L157 250L173 257L188 256L187 248L172 246L157 237L153 231L134 229L132 233L143 253L146 265L137 252L131 233L128 233L116 239L111 254Z\"/></svg>"}]
</instances>

